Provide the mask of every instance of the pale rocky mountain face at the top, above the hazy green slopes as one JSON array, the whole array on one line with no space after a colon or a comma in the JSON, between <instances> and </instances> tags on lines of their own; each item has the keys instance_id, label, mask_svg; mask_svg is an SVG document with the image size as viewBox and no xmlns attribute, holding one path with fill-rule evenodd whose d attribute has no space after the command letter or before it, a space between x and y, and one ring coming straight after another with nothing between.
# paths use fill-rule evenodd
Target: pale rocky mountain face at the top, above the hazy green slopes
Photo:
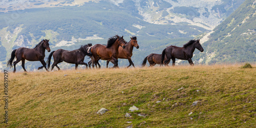
<instances>
[{"instance_id":1,"label":"pale rocky mountain face at the top, above the hazy green slopes","mask_svg":"<svg viewBox=\"0 0 256 128\"><path fill-rule=\"evenodd\" d=\"M236 10L244 0L112 0L117 6L134 4L143 20L153 24L189 24L207 30L214 29ZM131 6L131 5L130 5Z\"/></svg>"}]
</instances>

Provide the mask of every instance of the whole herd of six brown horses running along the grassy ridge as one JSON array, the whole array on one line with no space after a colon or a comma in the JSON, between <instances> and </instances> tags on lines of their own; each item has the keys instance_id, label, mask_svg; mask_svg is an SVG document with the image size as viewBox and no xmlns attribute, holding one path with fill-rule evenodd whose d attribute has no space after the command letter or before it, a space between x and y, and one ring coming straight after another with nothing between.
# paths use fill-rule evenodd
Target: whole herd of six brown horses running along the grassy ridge
<instances>
[{"instance_id":1,"label":"whole herd of six brown horses running along the grassy ridge","mask_svg":"<svg viewBox=\"0 0 256 128\"><path fill-rule=\"evenodd\" d=\"M197 40L189 40L183 47L176 47L176 46L169 46L166 49L162 51L162 54L150 54L147 57L144 58L142 62L142 67L146 65L146 60L150 63L150 66L155 66L156 64L162 66L168 66L168 63L170 62L170 59L173 60L173 66L175 66L175 59L182 59L182 60L188 60L189 64L191 66L194 65L191 58L193 57L193 53L195 49L198 49L199 51L203 52L204 49L202 48L200 44L200 39ZM123 39L123 36L115 35L113 37L110 37L108 39L108 42L106 45L101 44L87 44L81 46L79 49L68 51L63 49L58 49L56 51L52 51L49 47L49 39L43 39L41 40L33 49L29 48L18 48L12 51L11 58L7 61L8 67L14 67L13 72L16 71L16 64L22 60L22 68L25 72L25 60L29 61L40 61L42 63L42 66L38 68L43 69L45 68L46 71L49 71L50 64L51 64L51 58L53 56L53 64L51 71L54 67L56 67L58 70L60 68L58 67L58 63L65 61L67 63L73 63L75 64L75 69L77 69L78 65L86 65L86 68L96 67L100 68L99 60L106 60L106 68L108 68L109 62L112 62L114 64L113 68L119 68L118 67L118 58L120 59L128 59L130 65L127 66L129 68L130 66L134 66L134 63L131 59L133 55L133 48L139 48L137 37L133 36L131 37L131 40L129 42L126 42ZM45 50L48 52L51 52L48 56L47 61L45 62ZM84 57L89 56L91 60L88 62L83 62ZM13 62L14 58L16 57L16 60Z\"/></svg>"}]
</instances>

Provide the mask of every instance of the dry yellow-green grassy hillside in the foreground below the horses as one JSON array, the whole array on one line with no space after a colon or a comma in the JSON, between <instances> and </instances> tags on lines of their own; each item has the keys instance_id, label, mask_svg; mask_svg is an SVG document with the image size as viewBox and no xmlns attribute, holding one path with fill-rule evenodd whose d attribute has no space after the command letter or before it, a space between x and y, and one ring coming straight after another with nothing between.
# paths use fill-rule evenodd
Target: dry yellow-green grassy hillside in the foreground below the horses
<instances>
[{"instance_id":1,"label":"dry yellow-green grassy hillside in the foreground below the horses","mask_svg":"<svg viewBox=\"0 0 256 128\"><path fill-rule=\"evenodd\" d=\"M10 121L0 127L252 127L256 68L240 67L9 73ZM133 105L139 110L130 112Z\"/></svg>"}]
</instances>

